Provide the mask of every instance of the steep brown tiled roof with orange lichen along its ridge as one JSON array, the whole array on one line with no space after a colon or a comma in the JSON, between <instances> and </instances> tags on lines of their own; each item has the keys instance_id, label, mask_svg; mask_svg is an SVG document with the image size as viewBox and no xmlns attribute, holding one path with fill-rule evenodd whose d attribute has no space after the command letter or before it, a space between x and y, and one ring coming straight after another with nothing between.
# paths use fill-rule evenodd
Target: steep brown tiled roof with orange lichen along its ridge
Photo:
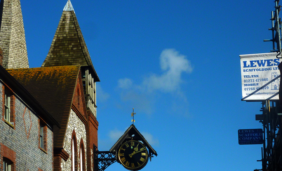
<instances>
[{"instance_id":1,"label":"steep brown tiled roof with orange lichen along its ridge","mask_svg":"<svg viewBox=\"0 0 282 171\"><path fill-rule=\"evenodd\" d=\"M54 127L54 147L62 147L80 65L7 70L61 125Z\"/></svg>"}]
</instances>

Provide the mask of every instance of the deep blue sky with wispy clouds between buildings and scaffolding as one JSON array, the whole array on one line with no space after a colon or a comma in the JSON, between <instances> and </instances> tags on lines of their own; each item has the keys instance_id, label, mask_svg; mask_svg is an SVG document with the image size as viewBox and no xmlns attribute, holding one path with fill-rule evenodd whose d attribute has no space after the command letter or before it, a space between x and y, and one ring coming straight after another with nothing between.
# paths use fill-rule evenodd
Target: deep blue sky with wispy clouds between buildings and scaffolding
<instances>
[{"instance_id":1,"label":"deep blue sky with wispy clouds between buildings and scaffolding","mask_svg":"<svg viewBox=\"0 0 282 171\"><path fill-rule=\"evenodd\" d=\"M99 150L132 124L158 156L147 170L261 169L259 102L241 101L240 57L272 49L273 1L72 0L97 83ZM64 1L21 1L30 67L43 63ZM107 168L125 170L117 163Z\"/></svg>"}]
</instances>

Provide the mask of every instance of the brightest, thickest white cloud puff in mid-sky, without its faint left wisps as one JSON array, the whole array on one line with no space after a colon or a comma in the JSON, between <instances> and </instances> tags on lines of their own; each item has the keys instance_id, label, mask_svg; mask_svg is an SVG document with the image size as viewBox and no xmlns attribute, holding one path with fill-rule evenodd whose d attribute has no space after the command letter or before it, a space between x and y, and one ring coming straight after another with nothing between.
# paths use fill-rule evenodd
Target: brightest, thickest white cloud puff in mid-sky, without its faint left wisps
<instances>
[{"instance_id":1,"label":"brightest, thickest white cloud puff in mid-sky, without its faint left wisps","mask_svg":"<svg viewBox=\"0 0 282 171\"><path fill-rule=\"evenodd\" d=\"M183 72L191 73L193 70L187 56L179 54L175 49L165 49L162 51L160 55L160 66L163 71L162 75L152 74L143 81L143 84L150 91L176 91L183 82L181 74Z\"/></svg>"}]
</instances>

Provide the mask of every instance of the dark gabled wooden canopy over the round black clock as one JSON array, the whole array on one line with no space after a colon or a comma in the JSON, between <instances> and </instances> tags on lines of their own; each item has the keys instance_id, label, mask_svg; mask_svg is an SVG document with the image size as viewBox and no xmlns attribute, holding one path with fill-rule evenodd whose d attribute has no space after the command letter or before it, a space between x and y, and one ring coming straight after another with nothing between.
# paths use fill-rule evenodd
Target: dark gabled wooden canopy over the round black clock
<instances>
[{"instance_id":1,"label":"dark gabled wooden canopy over the round black clock","mask_svg":"<svg viewBox=\"0 0 282 171\"><path fill-rule=\"evenodd\" d=\"M134 136L132 136L134 135ZM141 141L148 148L149 154L154 154L157 156L157 152L152 148L152 146L147 142L147 140L143 137L143 135L136 129L136 127L132 124L125 131L125 133L117 140L115 145L110 149L110 152L117 151L118 148L125 142L130 141L131 139L136 141Z\"/></svg>"}]
</instances>

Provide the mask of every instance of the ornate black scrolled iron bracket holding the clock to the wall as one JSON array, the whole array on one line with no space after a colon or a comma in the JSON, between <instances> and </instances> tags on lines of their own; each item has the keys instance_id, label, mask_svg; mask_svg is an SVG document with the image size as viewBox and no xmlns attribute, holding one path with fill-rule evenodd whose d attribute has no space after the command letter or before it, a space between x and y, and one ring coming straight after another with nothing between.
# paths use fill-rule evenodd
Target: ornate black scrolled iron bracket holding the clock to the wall
<instances>
[{"instance_id":1,"label":"ornate black scrolled iron bracket holding the clock to the wall","mask_svg":"<svg viewBox=\"0 0 282 171\"><path fill-rule=\"evenodd\" d=\"M110 151L99 151L95 145L93 149L94 171L104 171L117 161L115 154Z\"/></svg>"}]
</instances>

